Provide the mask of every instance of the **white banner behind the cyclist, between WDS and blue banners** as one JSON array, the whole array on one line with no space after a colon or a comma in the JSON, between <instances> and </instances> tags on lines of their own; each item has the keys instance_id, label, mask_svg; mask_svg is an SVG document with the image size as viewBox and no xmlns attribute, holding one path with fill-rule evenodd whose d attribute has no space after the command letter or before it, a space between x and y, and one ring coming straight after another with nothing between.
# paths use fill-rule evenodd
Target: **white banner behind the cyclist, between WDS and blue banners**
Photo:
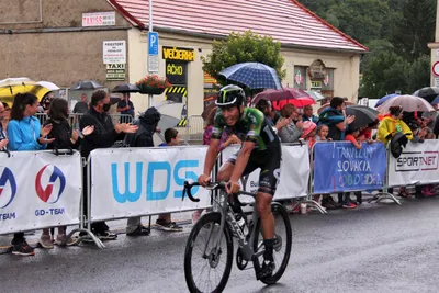
<instances>
[{"instance_id":1,"label":"white banner behind the cyclist, between WDS and blue banners","mask_svg":"<svg viewBox=\"0 0 439 293\"><path fill-rule=\"evenodd\" d=\"M223 162L237 153L239 147L227 147L223 150ZM260 169L240 179L244 191L256 193L259 188ZM306 145L282 145L281 177L274 200L302 198L306 195L309 179L309 153ZM244 196L243 196L244 198ZM244 200L246 201L246 200ZM250 201L248 199L248 201Z\"/></svg>"}]
</instances>

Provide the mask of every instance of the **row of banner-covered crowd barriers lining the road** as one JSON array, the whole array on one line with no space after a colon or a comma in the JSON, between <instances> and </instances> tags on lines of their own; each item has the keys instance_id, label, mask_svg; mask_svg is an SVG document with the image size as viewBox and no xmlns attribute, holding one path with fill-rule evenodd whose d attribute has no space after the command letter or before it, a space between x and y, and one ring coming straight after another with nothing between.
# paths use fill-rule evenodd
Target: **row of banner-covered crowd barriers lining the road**
<instances>
[{"instance_id":1,"label":"row of banner-covered crowd barriers lining the road","mask_svg":"<svg viewBox=\"0 0 439 293\"><path fill-rule=\"evenodd\" d=\"M297 204L314 204L325 213L313 195L385 191L405 182L436 183L438 146L438 140L409 143L399 158L393 158L381 143L363 144L361 149L350 143L317 143L312 154L306 145L283 145L274 200L295 199ZM90 232L93 222L207 207L207 191L201 188L193 190L199 203L181 201L183 182L198 179L206 150L205 146L93 150L88 161L86 212L77 151L70 156L19 151L10 157L0 153L0 234L81 223L97 245L104 247ZM225 149L217 162L236 150ZM258 170L243 178L243 189L256 191L258 178ZM383 196L391 195L379 193L374 200Z\"/></svg>"}]
</instances>

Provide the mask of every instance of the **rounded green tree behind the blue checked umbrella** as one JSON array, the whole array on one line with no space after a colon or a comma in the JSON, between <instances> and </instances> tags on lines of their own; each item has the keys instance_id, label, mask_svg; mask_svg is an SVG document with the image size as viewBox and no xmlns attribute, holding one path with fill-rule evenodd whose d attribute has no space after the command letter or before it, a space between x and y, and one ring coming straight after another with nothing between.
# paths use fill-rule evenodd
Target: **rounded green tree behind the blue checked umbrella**
<instances>
[{"instance_id":1,"label":"rounded green tree behind the blue checked umbrella","mask_svg":"<svg viewBox=\"0 0 439 293\"><path fill-rule=\"evenodd\" d=\"M281 55L281 44L274 42L271 36L260 36L251 31L243 34L232 33L226 40L214 41L212 53L201 59L203 70L218 79L222 84L226 82L222 80L218 72L239 63L266 64L277 70L281 80L286 74L282 70L284 59Z\"/></svg>"}]
</instances>

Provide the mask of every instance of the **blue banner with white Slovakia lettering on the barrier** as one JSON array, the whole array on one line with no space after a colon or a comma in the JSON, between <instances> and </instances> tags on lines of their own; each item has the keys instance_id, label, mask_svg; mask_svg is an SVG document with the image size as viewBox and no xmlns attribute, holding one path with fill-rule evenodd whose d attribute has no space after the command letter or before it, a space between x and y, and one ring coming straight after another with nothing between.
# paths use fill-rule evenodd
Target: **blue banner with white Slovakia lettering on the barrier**
<instances>
[{"instance_id":1,"label":"blue banner with white Slovakia lettering on the barrier","mask_svg":"<svg viewBox=\"0 0 439 293\"><path fill-rule=\"evenodd\" d=\"M384 144L317 143L314 147L314 193L381 189L386 171Z\"/></svg>"}]
</instances>

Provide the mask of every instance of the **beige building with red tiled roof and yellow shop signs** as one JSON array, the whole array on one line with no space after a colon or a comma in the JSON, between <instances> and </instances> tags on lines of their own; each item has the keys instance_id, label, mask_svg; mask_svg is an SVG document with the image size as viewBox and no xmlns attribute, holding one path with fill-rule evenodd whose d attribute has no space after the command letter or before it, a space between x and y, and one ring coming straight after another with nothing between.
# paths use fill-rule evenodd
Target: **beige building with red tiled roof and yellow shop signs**
<instances>
[{"instance_id":1,"label":"beige building with red tiled roof and yellow shop signs","mask_svg":"<svg viewBox=\"0 0 439 293\"><path fill-rule=\"evenodd\" d=\"M0 77L29 77L69 88L92 79L112 89L148 72L148 2L140 0L0 0ZM155 0L158 75L172 83L154 105L180 121L202 113L215 94L202 56L213 40L251 30L282 44L285 87L357 101L361 55L368 49L295 0ZM77 99L80 92L70 92ZM147 95L133 94L136 111Z\"/></svg>"}]
</instances>

